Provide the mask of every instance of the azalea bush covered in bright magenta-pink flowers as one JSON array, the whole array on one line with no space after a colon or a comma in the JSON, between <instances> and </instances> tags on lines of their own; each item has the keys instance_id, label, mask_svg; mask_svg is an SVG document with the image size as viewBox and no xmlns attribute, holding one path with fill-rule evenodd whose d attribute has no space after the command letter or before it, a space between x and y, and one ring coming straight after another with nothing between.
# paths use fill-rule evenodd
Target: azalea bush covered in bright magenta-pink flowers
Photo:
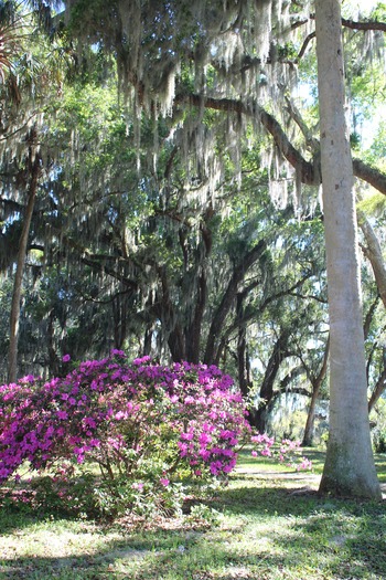
<instances>
[{"instance_id":1,"label":"azalea bush covered in bright magenta-pink flowers","mask_svg":"<svg viewBox=\"0 0 386 580\"><path fill-rule=\"evenodd\" d=\"M215 366L130 363L114 350L64 378L0 387L0 481L35 471L35 500L44 491L78 512L175 512L184 485L224 481L246 444L283 462L298 451L253 433L239 391Z\"/></svg>"}]
</instances>

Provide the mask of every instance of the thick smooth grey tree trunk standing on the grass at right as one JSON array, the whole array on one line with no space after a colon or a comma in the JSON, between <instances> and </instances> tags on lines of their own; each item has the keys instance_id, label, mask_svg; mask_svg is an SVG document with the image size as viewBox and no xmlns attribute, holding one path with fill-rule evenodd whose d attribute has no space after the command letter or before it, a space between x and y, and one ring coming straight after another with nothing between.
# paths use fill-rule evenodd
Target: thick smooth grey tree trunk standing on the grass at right
<instances>
[{"instance_id":1,"label":"thick smooth grey tree trunk standing on the grass at right","mask_svg":"<svg viewBox=\"0 0 386 580\"><path fill-rule=\"evenodd\" d=\"M380 498L367 413L353 165L339 0L315 0L330 310L330 436L321 493Z\"/></svg>"}]
</instances>

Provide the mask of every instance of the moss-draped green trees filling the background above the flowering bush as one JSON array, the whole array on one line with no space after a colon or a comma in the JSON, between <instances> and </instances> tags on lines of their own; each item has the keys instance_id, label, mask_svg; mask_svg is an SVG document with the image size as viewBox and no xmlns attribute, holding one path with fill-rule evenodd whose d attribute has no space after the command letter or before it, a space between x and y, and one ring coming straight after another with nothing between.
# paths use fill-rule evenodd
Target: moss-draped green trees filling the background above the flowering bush
<instances>
[{"instance_id":1,"label":"moss-draped green trees filling the background above the flowering bush","mask_svg":"<svg viewBox=\"0 0 386 580\"><path fill-rule=\"evenodd\" d=\"M260 429L280 393L317 399L336 347L313 2L3 1L0 17L0 339L13 295L18 372L125 347L221 365ZM382 3L354 2L339 21L371 405L385 386L386 175L383 127L366 133L385 21Z\"/></svg>"}]
</instances>

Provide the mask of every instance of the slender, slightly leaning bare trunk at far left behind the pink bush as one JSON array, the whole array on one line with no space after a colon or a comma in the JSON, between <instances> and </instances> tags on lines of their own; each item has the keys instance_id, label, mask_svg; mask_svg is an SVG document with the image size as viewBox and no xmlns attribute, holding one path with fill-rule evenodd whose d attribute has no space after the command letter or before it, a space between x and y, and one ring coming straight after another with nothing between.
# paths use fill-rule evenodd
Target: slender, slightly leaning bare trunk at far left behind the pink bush
<instances>
[{"instance_id":1,"label":"slender, slightly leaning bare trunk at far left behind the pink bush","mask_svg":"<svg viewBox=\"0 0 386 580\"><path fill-rule=\"evenodd\" d=\"M32 152L30 151L30 160ZM15 382L18 377L18 346L19 346L19 325L20 325L20 302L23 283L23 273L26 257L26 246L35 204L39 175L41 168L41 158L35 154L31 160L30 184L28 191L28 202L25 207L23 228L19 241L19 252L17 260L17 270L13 282L13 294L10 316L10 346L8 352L8 382Z\"/></svg>"}]
</instances>

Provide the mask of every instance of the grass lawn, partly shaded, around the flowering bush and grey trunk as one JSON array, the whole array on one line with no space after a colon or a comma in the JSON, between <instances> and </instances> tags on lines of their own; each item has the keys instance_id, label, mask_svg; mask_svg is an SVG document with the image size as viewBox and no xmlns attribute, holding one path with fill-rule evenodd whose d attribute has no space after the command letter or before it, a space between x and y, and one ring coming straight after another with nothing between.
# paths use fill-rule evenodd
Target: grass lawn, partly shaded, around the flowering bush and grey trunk
<instances>
[{"instance_id":1,"label":"grass lawn, partly shaded, around the flowering bush and grey trunk","mask_svg":"<svg viewBox=\"0 0 386 580\"><path fill-rule=\"evenodd\" d=\"M135 528L50 514L0 513L0 579L386 579L386 503L319 497L313 474L244 455L207 507L216 518ZM386 483L386 455L376 457ZM216 512L215 512L216 510Z\"/></svg>"}]
</instances>

